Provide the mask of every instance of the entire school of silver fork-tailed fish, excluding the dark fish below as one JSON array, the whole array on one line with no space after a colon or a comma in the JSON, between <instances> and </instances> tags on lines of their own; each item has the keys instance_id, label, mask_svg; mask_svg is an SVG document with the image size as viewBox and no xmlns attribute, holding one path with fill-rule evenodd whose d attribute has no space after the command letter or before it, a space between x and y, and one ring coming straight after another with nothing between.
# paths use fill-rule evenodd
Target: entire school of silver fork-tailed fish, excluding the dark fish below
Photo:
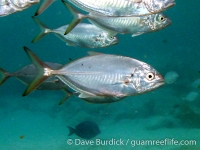
<instances>
[{"instance_id":1,"label":"entire school of silver fork-tailed fish, excluding the dark fish below","mask_svg":"<svg viewBox=\"0 0 200 150\"><path fill-rule=\"evenodd\" d=\"M171 20L163 11L175 5L174 0L61 0L74 19L57 29L49 29L36 16L54 1L42 1L32 17L41 29L32 43L53 33L68 46L105 48L119 43L117 34L134 37L166 28ZM0 16L23 11L39 2L0 0ZM83 19L90 23L80 23ZM111 103L165 84L162 75L151 65L130 57L89 52L89 56L60 65L43 62L27 47L24 50L32 64L14 73L0 68L0 85L14 76L28 86L23 96L35 89L62 89L67 94L59 104L72 95L90 103Z\"/></svg>"}]
</instances>

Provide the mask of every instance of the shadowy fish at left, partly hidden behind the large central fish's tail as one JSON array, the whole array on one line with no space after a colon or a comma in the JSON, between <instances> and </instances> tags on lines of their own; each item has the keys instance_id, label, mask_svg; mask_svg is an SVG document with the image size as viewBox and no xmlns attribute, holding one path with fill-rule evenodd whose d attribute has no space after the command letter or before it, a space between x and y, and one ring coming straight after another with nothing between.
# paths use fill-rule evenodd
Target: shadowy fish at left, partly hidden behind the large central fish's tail
<instances>
[{"instance_id":1,"label":"shadowy fish at left, partly hidden behind the large central fish's tail","mask_svg":"<svg viewBox=\"0 0 200 150\"><path fill-rule=\"evenodd\" d=\"M54 69L59 69L62 66L61 64L50 63L50 62L45 62L45 64L51 66ZM23 84L29 85L36 76L37 72L38 71L33 64L27 65L15 71L14 73L10 73L0 68L0 74L1 74L0 86L10 77L16 77ZM69 87L63 82L61 82L56 76L51 76L43 83L41 83L37 87L37 90L63 90L66 93L66 96L60 101L59 105L61 105L72 95L72 93L70 93L69 90L67 90L68 88Z\"/></svg>"}]
</instances>

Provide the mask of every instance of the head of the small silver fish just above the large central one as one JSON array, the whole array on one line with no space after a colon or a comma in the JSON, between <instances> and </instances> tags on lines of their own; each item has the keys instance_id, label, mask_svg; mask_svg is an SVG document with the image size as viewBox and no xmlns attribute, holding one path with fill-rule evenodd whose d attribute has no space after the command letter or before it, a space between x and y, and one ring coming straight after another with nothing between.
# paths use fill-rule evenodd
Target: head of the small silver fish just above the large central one
<instances>
[{"instance_id":1,"label":"head of the small silver fish just above the large central one","mask_svg":"<svg viewBox=\"0 0 200 150\"><path fill-rule=\"evenodd\" d=\"M117 44L119 39L117 36L110 36L108 33L102 32L98 36L94 38L94 46L95 47L107 47L114 44Z\"/></svg>"}]
</instances>

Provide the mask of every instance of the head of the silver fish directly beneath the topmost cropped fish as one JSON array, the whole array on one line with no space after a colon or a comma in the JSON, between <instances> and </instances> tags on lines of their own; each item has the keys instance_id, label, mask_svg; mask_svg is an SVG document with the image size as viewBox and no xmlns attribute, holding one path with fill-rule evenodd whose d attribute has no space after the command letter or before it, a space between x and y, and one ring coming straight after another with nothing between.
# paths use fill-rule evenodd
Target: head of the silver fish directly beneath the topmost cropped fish
<instances>
[{"instance_id":1,"label":"head of the silver fish directly beneath the topmost cropped fish","mask_svg":"<svg viewBox=\"0 0 200 150\"><path fill-rule=\"evenodd\" d=\"M169 26L171 20L166 15L158 13L148 15L145 24L151 29L151 31L158 31Z\"/></svg>"}]
</instances>

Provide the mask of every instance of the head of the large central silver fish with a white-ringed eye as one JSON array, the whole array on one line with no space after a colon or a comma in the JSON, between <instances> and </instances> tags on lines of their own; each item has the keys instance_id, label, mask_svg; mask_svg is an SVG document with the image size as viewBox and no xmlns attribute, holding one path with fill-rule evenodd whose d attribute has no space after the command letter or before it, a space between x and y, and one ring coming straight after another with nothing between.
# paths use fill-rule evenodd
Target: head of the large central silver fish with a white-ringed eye
<instances>
[{"instance_id":1,"label":"head of the large central silver fish with a white-ringed eye","mask_svg":"<svg viewBox=\"0 0 200 150\"><path fill-rule=\"evenodd\" d=\"M132 85L137 93L152 91L164 84L163 76L150 65L141 63L141 66L134 68Z\"/></svg>"}]
</instances>

